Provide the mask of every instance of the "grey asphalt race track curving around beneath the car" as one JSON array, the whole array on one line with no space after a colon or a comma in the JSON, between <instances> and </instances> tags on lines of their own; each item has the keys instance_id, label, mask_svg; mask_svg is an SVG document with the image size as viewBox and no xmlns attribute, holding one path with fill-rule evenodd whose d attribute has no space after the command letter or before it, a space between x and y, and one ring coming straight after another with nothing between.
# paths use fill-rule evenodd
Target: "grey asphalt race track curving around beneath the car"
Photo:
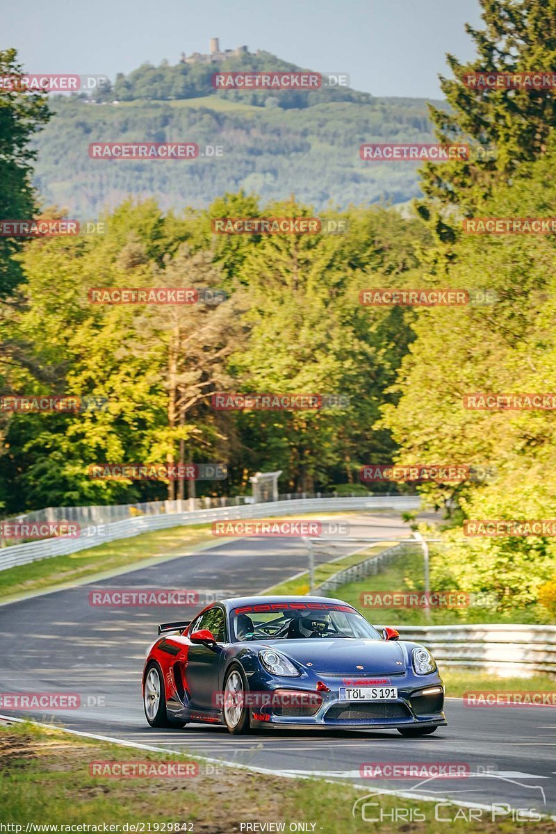
<instances>
[{"instance_id":1,"label":"grey asphalt race track curving around beneath the car","mask_svg":"<svg viewBox=\"0 0 556 834\"><path fill-rule=\"evenodd\" d=\"M352 536L393 537L406 530L394 513L350 516L349 522ZM353 549L347 545L343 552ZM335 550L332 557L341 552ZM156 637L158 622L187 619L194 609L94 607L88 603L89 591L186 588L241 595L260 592L306 568L306 550L298 540L238 539L96 584L2 605L0 692L78 692L82 699L78 710L33 713L33 717L168 751L340 778L359 782L369 793L380 787L414 789L420 796L451 796L485 805L506 802L514 808L556 813L556 708L552 707L473 708L448 700L448 726L423 739L404 739L396 731L303 735L261 731L235 737L222 727L199 724L179 731L151 729L143 715L140 688L148 646ZM370 583L372 577L372 587ZM395 614L385 625L395 625ZM10 714L3 707L0 712ZM11 714L23 716L17 711ZM365 762L438 761L466 763L473 776L424 784L359 776ZM485 771L488 775L481 776Z\"/></svg>"}]
</instances>

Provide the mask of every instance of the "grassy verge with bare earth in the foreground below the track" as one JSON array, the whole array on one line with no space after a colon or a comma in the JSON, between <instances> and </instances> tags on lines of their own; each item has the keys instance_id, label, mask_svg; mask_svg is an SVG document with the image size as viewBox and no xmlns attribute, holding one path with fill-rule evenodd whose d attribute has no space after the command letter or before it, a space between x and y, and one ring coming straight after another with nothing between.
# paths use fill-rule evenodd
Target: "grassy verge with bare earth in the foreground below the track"
<instances>
[{"instance_id":1,"label":"grassy verge with bare earth in the foreground below the track","mask_svg":"<svg viewBox=\"0 0 556 834\"><path fill-rule=\"evenodd\" d=\"M0 822L25 826L103 823L123 826L125 823L158 823L151 831L164 831L162 823L192 823L189 830L203 834L233 834L243 821L314 823L314 831L323 834L358 834L380 832L393 834L412 831L416 834L441 834L446 823L434 820L433 803L408 801L401 797L373 797L378 801L384 820L362 821L352 816L353 802L379 788L369 781L368 789L357 790L350 785L331 784L320 780L293 780L279 776L249 773L233 767L210 772L199 761L198 776L191 778L108 778L92 776L93 761L194 761L193 756L155 754L90 740L55 729L30 724L0 726ZM362 761L364 754L362 754ZM407 789L407 786L406 786ZM426 821L411 826L391 821L394 808L419 809ZM373 816L378 816L374 807ZM443 816L448 809L443 806ZM450 809L451 816L458 810ZM461 811L460 811L461 815ZM482 831L532 831L529 823L511 819L493 823L485 812L485 821L469 822L459 818L449 830L453 834ZM13 831L13 829L11 829ZM128 831L133 829L128 828ZM243 829L245 830L245 829ZM260 828L258 829L260 830ZM17 829L15 830L17 831ZM122 828L120 828L122 831ZM555 832L556 823L537 822L535 832Z\"/></svg>"}]
</instances>

